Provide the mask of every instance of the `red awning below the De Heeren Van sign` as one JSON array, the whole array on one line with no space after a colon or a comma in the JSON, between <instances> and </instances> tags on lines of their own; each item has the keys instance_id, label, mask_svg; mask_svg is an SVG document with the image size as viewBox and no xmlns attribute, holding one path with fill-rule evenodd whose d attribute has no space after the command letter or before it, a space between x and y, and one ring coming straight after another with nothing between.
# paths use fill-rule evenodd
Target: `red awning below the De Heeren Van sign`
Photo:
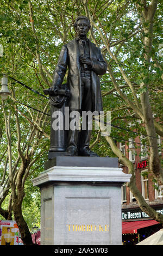
<instances>
[{"instance_id":1,"label":"red awning below the De Heeren Van sign","mask_svg":"<svg viewBox=\"0 0 163 256\"><path fill-rule=\"evenodd\" d=\"M159 224L159 222L154 220L122 222L122 234L137 233L137 229L149 227L155 224Z\"/></svg>"}]
</instances>

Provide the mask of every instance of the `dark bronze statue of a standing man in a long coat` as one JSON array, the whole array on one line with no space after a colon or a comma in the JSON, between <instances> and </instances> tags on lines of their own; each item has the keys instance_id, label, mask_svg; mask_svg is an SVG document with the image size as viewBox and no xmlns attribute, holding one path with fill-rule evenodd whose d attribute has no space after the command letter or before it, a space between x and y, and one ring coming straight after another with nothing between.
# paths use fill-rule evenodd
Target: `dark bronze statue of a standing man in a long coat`
<instances>
[{"instance_id":1,"label":"dark bronze statue of a standing man in a long coat","mask_svg":"<svg viewBox=\"0 0 163 256\"><path fill-rule=\"evenodd\" d=\"M62 46L58 64L54 71L52 87L61 88L68 68L67 87L70 90L68 107L71 111L103 111L102 96L98 75L106 72L107 65L101 51L86 34L90 29L90 20L79 16L74 23L76 38ZM88 122L88 120L87 120ZM71 156L98 156L90 150L91 130L68 131L67 153Z\"/></svg>"}]
</instances>

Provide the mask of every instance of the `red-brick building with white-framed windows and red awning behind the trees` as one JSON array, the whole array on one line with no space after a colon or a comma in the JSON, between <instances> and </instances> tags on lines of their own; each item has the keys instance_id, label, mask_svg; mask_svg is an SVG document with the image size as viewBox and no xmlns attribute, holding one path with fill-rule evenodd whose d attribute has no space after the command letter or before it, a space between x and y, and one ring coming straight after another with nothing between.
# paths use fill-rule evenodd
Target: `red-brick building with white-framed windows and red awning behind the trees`
<instances>
[{"instance_id":1,"label":"red-brick building with white-framed windows and red awning behind the trees","mask_svg":"<svg viewBox=\"0 0 163 256\"><path fill-rule=\"evenodd\" d=\"M145 138L130 138L129 142L120 142L118 147L134 164L136 186L146 202L156 211L163 214L163 185L158 186L148 167L149 148ZM162 154L162 138L158 137L159 155ZM120 164L124 173L128 168ZM141 211L134 195L126 184L122 186L122 242L123 245L135 245L162 228L162 224L152 220Z\"/></svg>"}]
</instances>

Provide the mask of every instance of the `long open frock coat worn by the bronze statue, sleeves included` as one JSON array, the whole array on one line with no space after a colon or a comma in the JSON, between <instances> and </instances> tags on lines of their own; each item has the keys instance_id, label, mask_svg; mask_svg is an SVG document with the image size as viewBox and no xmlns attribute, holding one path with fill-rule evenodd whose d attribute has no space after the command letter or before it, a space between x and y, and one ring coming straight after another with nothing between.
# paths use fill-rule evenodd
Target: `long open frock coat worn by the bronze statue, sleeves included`
<instances>
[{"instance_id":1,"label":"long open frock coat worn by the bronze statue, sleeves included","mask_svg":"<svg viewBox=\"0 0 163 256\"><path fill-rule=\"evenodd\" d=\"M102 57L101 50L89 40L91 68L91 87L92 87L92 111L103 111L102 96L99 83L99 76L104 75L107 65ZM69 107L71 110L81 109L81 82L80 82L80 63L79 48L76 39L62 46L58 64L54 70L53 86L60 87L68 66L67 86L71 92Z\"/></svg>"}]
</instances>

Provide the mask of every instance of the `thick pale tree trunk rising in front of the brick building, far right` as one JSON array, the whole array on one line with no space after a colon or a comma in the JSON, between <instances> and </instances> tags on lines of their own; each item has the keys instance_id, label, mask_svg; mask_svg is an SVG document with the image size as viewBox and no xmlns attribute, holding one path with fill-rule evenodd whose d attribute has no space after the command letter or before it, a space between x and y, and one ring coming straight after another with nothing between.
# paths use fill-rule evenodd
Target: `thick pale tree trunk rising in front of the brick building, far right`
<instances>
[{"instance_id":1,"label":"thick pale tree trunk rising in front of the brick building, far right","mask_svg":"<svg viewBox=\"0 0 163 256\"><path fill-rule=\"evenodd\" d=\"M140 21L145 33L144 44L145 44L145 62L144 66L149 74L149 67L151 61L151 52L152 52L152 41L153 41L153 25L154 25L154 15L156 12L158 1L153 0L148 7L145 5L140 11ZM139 10L139 5L137 6ZM161 168L159 151L158 151L158 142L156 138L156 131L154 125L153 114L151 110L151 104L149 101L149 90L148 83L141 83L141 87L146 87L146 92L140 94L142 112L143 112L143 121L145 122L146 131L150 144L150 157L149 157L149 168L155 178L163 182L163 170Z\"/></svg>"}]
</instances>

